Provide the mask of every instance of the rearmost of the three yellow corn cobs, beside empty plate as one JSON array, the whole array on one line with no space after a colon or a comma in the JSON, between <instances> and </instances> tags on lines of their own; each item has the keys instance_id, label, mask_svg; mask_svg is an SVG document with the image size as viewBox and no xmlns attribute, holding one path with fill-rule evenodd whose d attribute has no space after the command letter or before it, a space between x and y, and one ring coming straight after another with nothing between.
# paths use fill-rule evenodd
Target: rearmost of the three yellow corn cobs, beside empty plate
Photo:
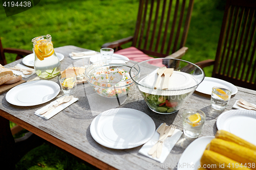
<instances>
[{"instance_id":1,"label":"rearmost of the three yellow corn cobs, beside empty plate","mask_svg":"<svg viewBox=\"0 0 256 170\"><path fill-rule=\"evenodd\" d=\"M251 144L250 142L247 142L246 140L241 139L240 137L233 135L232 133L229 133L227 131L224 131L224 130L217 131L215 137L226 140L226 141L237 143L243 147L256 151L256 146L254 144Z\"/></svg>"}]
</instances>

